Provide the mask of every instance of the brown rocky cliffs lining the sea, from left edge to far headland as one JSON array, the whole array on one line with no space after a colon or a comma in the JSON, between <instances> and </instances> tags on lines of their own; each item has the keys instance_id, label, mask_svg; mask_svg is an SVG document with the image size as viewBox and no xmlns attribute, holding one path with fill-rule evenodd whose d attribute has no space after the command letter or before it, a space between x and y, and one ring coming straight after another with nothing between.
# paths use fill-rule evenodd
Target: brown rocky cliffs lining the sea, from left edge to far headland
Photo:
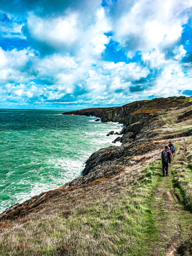
<instances>
[{"instance_id":1,"label":"brown rocky cliffs lining the sea, from left edge to far headland","mask_svg":"<svg viewBox=\"0 0 192 256\"><path fill-rule=\"evenodd\" d=\"M32 211L39 211L53 196L60 197L78 186L99 180L157 158L171 139L173 142L192 135L192 97L171 97L135 101L122 107L82 109L65 115L97 116L102 122L124 123L122 146L110 146L93 153L86 161L82 176L66 183L59 189L47 191L30 200L11 206L0 214L0 221L21 218Z\"/></svg>"}]
</instances>

